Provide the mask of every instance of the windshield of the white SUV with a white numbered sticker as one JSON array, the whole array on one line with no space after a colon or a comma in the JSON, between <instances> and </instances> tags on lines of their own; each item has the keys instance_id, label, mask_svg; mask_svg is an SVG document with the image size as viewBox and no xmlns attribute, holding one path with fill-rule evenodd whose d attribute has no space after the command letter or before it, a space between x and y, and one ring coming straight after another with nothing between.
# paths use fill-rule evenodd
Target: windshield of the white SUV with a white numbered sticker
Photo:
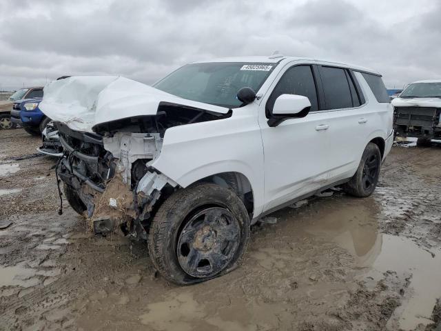
<instances>
[{"instance_id":1,"label":"windshield of the white SUV with a white numbered sticker","mask_svg":"<svg viewBox=\"0 0 441 331\"><path fill-rule=\"evenodd\" d=\"M154 88L177 97L238 108L240 88L260 89L277 63L194 63L187 64L158 81Z\"/></svg>"}]
</instances>

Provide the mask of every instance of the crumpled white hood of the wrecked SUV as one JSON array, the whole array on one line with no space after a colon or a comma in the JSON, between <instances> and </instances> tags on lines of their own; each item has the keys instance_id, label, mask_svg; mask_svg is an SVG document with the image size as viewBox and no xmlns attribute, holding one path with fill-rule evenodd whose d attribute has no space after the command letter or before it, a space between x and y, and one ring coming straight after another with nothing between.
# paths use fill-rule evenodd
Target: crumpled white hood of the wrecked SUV
<instances>
[{"instance_id":1,"label":"crumpled white hood of the wrecked SUV","mask_svg":"<svg viewBox=\"0 0 441 331\"><path fill-rule=\"evenodd\" d=\"M160 102L176 103L226 114L227 108L182 99L138 81L118 76L75 76L44 88L39 108L72 130L92 132L96 124L154 115Z\"/></svg>"}]
</instances>

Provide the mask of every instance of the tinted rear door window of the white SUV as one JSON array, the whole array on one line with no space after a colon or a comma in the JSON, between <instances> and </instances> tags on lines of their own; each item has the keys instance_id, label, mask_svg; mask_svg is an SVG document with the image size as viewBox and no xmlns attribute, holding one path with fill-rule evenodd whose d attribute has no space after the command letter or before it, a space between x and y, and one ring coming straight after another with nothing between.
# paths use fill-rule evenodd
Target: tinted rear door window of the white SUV
<instances>
[{"instance_id":1,"label":"tinted rear door window of the white SUV","mask_svg":"<svg viewBox=\"0 0 441 331\"><path fill-rule=\"evenodd\" d=\"M346 72L341 68L321 67L323 92L325 93L325 109L351 108L352 97Z\"/></svg>"}]
</instances>

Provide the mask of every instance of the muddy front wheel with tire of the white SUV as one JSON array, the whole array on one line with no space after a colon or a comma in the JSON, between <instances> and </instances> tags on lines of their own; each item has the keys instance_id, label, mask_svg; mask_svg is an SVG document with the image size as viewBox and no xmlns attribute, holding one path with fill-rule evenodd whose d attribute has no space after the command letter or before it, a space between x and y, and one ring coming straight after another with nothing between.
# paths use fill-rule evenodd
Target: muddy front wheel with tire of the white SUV
<instances>
[{"instance_id":1,"label":"muddy front wheel with tire of the white SUV","mask_svg":"<svg viewBox=\"0 0 441 331\"><path fill-rule=\"evenodd\" d=\"M178 190L158 209L148 247L167 281L189 285L234 270L247 248L250 223L238 196L201 183Z\"/></svg>"}]
</instances>

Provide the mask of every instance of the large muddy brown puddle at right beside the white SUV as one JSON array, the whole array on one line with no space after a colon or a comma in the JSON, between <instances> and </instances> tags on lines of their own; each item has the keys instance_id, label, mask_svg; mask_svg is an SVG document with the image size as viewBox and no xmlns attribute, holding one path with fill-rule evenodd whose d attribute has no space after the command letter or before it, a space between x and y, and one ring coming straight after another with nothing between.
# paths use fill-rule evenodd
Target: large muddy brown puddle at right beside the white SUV
<instances>
[{"instance_id":1,"label":"large muddy brown puddle at right beside the white SUV","mask_svg":"<svg viewBox=\"0 0 441 331\"><path fill-rule=\"evenodd\" d=\"M348 201L344 208L340 203L321 207L318 216L323 209L326 216L308 221L302 230L345 248L356 265L367 270L363 277L380 280L389 270L403 279L411 276L401 305L389 319L395 324L388 327L413 330L419 323L431 323L433 306L441 297L441 251L428 252L411 239L379 233L378 217L384 217L384 206L375 199L363 204Z\"/></svg>"}]
</instances>

